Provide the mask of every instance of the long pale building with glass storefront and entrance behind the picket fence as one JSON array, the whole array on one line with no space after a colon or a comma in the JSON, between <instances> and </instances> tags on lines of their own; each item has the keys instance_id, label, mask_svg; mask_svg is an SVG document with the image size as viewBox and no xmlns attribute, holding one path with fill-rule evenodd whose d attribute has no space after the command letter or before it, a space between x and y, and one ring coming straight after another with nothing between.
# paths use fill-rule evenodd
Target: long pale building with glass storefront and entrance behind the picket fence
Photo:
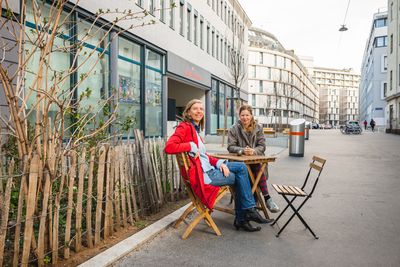
<instances>
[{"instance_id":1,"label":"long pale building with glass storefront and entrance behind the picket fence","mask_svg":"<svg viewBox=\"0 0 400 267\"><path fill-rule=\"evenodd\" d=\"M118 118L134 122L130 133L123 134L125 137L133 136L135 128L143 130L145 136L171 134L176 124L175 115L181 115L187 101L193 98L205 103L206 133L216 133L217 128L223 127L226 105L228 126L233 123L233 101L226 101L235 92L230 59L235 53L240 64L246 63L247 29L251 24L237 0L116 1L112 9L148 14L137 19L137 25L155 22L130 28L132 20L120 21L121 34L107 31L112 20L107 16L93 25L94 14L110 9L110 5L106 0L87 0L81 1L74 12L68 6L63 12L63 16L71 17L71 24L57 37L57 45L82 42L82 38L85 39L84 54L101 58L95 70L91 70L92 75L81 84L79 77L89 71L91 64L80 65L75 77L63 84L65 90L77 88L80 96L91 88L82 105L92 107L116 89ZM46 4L42 9L42 16L49 19L50 6ZM26 35L29 36L29 29L37 25L29 13L33 8L28 6L27 10ZM102 40L100 47L99 40ZM82 62L88 61L82 59ZM59 53L53 62L59 70L76 64L67 52ZM27 84L32 79L29 73L35 71L35 63L32 60L27 66ZM235 97L247 101L246 78L239 89L240 94Z\"/></svg>"}]
</instances>

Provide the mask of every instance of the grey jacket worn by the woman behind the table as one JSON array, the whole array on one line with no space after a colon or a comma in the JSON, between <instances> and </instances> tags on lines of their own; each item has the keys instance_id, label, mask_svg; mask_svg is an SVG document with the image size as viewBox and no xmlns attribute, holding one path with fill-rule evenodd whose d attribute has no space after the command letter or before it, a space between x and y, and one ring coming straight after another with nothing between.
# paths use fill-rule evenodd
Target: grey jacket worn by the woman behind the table
<instances>
[{"instance_id":1,"label":"grey jacket worn by the woman behind the table","mask_svg":"<svg viewBox=\"0 0 400 267\"><path fill-rule=\"evenodd\" d=\"M263 128L257 124L252 133L246 133L238 121L228 131L228 151L238 153L246 146L253 148L256 155L264 155L266 145Z\"/></svg>"}]
</instances>

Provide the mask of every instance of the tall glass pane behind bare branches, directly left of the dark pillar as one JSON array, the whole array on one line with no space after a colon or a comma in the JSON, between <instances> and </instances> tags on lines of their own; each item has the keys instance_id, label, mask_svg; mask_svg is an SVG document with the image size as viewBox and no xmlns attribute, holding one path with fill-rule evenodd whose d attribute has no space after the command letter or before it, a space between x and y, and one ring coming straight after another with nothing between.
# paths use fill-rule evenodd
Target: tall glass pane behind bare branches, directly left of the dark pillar
<instances>
[{"instance_id":1,"label":"tall glass pane behind bare branches, directly left of the dark pillar","mask_svg":"<svg viewBox=\"0 0 400 267\"><path fill-rule=\"evenodd\" d=\"M81 21L77 23L78 40L83 43L78 56L78 90L77 97L81 98L88 91L89 96L83 98L79 106L81 112L93 114L94 119L86 127L88 131L96 128L105 120L99 112L109 97L109 53L108 37L98 27ZM86 78L85 78L86 77Z\"/></svg>"}]
</instances>

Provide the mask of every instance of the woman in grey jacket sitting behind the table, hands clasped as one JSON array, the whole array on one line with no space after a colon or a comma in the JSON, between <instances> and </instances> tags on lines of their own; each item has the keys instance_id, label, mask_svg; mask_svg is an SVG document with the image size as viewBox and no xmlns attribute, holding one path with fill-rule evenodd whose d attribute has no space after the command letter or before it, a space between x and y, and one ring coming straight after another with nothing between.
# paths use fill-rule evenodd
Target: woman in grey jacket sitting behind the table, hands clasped
<instances>
[{"instance_id":1,"label":"woman in grey jacket sitting behind the table, hands clasped","mask_svg":"<svg viewBox=\"0 0 400 267\"><path fill-rule=\"evenodd\" d=\"M249 105L241 106L239 108L239 121L228 131L228 151L245 155L264 155L265 148L264 132L262 127L254 120L252 107ZM259 168L260 166L255 166L253 172ZM268 193L265 173L261 176L260 187L267 208L273 213L278 212L278 205Z\"/></svg>"}]
</instances>

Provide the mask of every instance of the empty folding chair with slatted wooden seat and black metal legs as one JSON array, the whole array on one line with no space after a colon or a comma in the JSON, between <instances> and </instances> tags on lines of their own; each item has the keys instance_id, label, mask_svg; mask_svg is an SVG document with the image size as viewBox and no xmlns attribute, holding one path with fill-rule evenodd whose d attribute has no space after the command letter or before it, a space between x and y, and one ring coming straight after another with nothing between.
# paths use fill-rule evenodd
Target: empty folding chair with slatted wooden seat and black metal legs
<instances>
[{"instance_id":1,"label":"empty folding chair with slatted wooden seat and black metal legs","mask_svg":"<svg viewBox=\"0 0 400 267\"><path fill-rule=\"evenodd\" d=\"M324 168L325 162L326 162L325 159L322 159L322 158L317 157L317 156L313 156L313 161L312 161L312 163L310 163L310 169L308 170L306 179L305 179L305 181L303 183L303 186L301 188L299 188L297 186L293 186L293 185L277 185L277 184L273 184L272 185L273 188L275 189L275 191L286 200L288 205L286 206L286 208L284 210L282 210L282 212L279 214L278 218L275 219L274 223L272 223L271 226L273 226L279 220L279 218L282 216L283 213L285 213L285 211L287 210L288 207L290 207L294 212L292 214L292 216L289 218L289 220L285 223L285 225L276 234L276 237L279 237L279 235L282 233L283 229L285 229L286 226L289 224L289 222L293 219L293 217L295 215L297 215L297 217L304 224L304 226L311 232L311 234L315 237L315 239L318 239L318 236L315 235L313 230L311 230L311 227L306 223L306 221L300 215L299 211L303 207L303 205L307 202L307 200L312 197L312 194L314 193L315 187L317 186L317 183L318 183L318 180L319 180L319 176L321 175L321 172L322 172L322 170ZM305 191L305 187L307 185L308 179L310 178L310 174L312 172L316 172L316 178L315 178L314 185L312 186L310 193L307 193ZM287 196L293 196L293 198L291 200L289 200ZM300 206L298 208L295 208L293 206L293 201L297 197L305 197L305 199L300 204Z\"/></svg>"}]
</instances>

